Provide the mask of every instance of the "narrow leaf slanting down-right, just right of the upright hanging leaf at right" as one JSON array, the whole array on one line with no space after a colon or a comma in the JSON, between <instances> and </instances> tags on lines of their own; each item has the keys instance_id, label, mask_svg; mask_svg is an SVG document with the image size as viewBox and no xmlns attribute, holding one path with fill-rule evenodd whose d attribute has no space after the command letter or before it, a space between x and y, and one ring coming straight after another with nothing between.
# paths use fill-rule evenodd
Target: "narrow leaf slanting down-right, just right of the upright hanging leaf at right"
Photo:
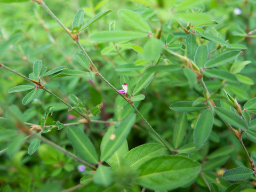
<instances>
[{"instance_id":1,"label":"narrow leaf slanting down-right, just right of the upright hanging leaf at right","mask_svg":"<svg viewBox=\"0 0 256 192\"><path fill-rule=\"evenodd\" d=\"M228 109L215 107L215 113L225 122L229 123L231 126L235 126L242 130L248 130L246 123L242 118L238 117L235 113Z\"/></svg>"}]
</instances>

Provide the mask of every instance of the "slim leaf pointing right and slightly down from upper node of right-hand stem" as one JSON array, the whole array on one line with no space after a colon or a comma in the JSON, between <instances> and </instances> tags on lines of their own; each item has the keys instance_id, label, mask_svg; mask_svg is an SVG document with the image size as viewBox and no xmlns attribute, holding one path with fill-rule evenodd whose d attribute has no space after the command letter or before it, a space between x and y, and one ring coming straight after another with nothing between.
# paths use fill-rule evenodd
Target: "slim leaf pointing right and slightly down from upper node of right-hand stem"
<instances>
[{"instance_id":1,"label":"slim leaf pointing right and slightly down from upper node of right-hand stem","mask_svg":"<svg viewBox=\"0 0 256 192\"><path fill-rule=\"evenodd\" d=\"M231 83L238 83L235 75L229 73L228 71L221 69L205 69L203 74L207 77L215 77L220 79L226 79Z\"/></svg>"}]
</instances>

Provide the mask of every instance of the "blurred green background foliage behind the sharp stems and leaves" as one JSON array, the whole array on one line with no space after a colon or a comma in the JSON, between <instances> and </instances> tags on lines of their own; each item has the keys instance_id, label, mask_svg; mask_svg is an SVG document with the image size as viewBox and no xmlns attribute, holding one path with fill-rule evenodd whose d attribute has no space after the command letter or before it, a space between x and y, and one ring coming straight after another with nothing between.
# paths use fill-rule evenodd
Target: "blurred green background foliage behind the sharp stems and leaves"
<instances>
[{"instance_id":1,"label":"blurred green background foliage behind the sharp stems and leaves","mask_svg":"<svg viewBox=\"0 0 256 192\"><path fill-rule=\"evenodd\" d=\"M158 3L161 4L161 2L162 1L159 0ZM91 34L102 30L131 30L129 26L125 25L125 23L118 18L118 10L133 10L139 7L145 7L147 6L147 1L46 0L45 3L68 28L71 28L74 15L79 9L85 10L84 21L91 19L95 14L104 10L113 10L113 12L100 19L89 29L83 30L79 35L81 39L80 41L101 74L108 79L111 84L117 87L117 89L122 88L119 83L119 76L121 74L128 75L133 87L135 86L139 77L145 70L144 68L133 71L117 71L115 69L125 63L134 63L134 61L138 59L137 52L130 47L125 47L127 45L123 47L122 45L117 45L118 50L124 57L123 59L115 50L106 51L106 47L113 46L112 42L97 44L90 41L89 37ZM43 66L46 66L49 70L58 66L67 66L69 69L83 70L73 58L73 54L79 51L73 39L68 37L66 32L42 9L41 6L31 2L12 4L3 3L0 4L0 6L0 41L4 42L18 31L21 31L22 33L22 37L14 43L11 49L6 51L0 57L1 63L26 76L31 73L33 63L38 59L41 59ZM247 46L247 49L243 50L243 54L239 56L236 62L246 60L251 61L251 63L241 71L241 74L249 76L253 82L255 82L255 1L212 0L205 1L204 5L200 6L205 6L205 12L210 15L213 20L219 23L219 25L207 26L207 31L210 31L216 36L220 35L222 39L228 39L230 44L241 43ZM239 9L238 14L235 11L236 9ZM156 15L151 17L148 22L153 26L153 29L157 29L160 25ZM183 22L182 25L186 28L185 22ZM251 34L249 34L250 31L252 31ZM186 37L184 31L174 21L164 22L163 33L172 33L174 36L179 36L179 42L184 42ZM145 42L145 39L138 39L137 41L133 41L133 44L143 46ZM198 45L200 43L201 42L198 42ZM212 42L209 42L208 46L209 52L216 48L215 44ZM105 52L102 53L103 50ZM218 55L221 52L222 50L220 49L213 54ZM167 55L166 58L169 59L169 62L181 62L179 59L168 53L164 54ZM161 62L167 61L162 59ZM44 93L42 90L39 90L37 99L34 99L29 105L22 105L21 100L25 95L24 92L10 94L7 93L7 91L13 86L28 83L4 69L0 69L0 74L0 100L8 106L18 106L23 113L23 120L25 122L39 124L40 119L43 117L44 110L50 105L54 106L54 113L47 118L46 125L52 125L56 121L60 121L61 123L75 122L79 118L73 111L68 111L67 106L58 102L55 98ZM221 81L219 81L219 83L222 86ZM87 76L72 76L53 79L45 77L43 78L43 84L47 89L60 95L60 97L66 101L69 100L69 94L75 94L89 110L102 102L103 107L101 108L101 114L94 117L95 119L113 119L113 121L117 121L117 115L114 115L115 102L122 103L125 110L130 111L130 106L124 101L117 101L117 94L97 78L95 78L94 81L90 81L90 78ZM220 87L213 85L212 90L220 90ZM251 84L239 84L237 86L229 84L227 90L238 99L238 102L241 105L243 105L245 101L256 96L255 86ZM138 103L139 110L145 115L150 124L155 127L157 132L161 133L167 141L171 141L173 127L179 113L170 110L170 104L182 100L195 100L201 95L201 92L202 90L196 86L193 87L193 89L190 89L188 80L182 71L177 73L161 71L156 74L149 87L142 91L142 93L146 95L146 99ZM0 109L0 116L4 116L4 113L5 111ZM68 119L68 115L75 116L75 119ZM196 115L198 114L191 113L188 115L189 127L192 129L189 129L190 132L187 134L187 140L193 140L193 127L196 122L191 120L193 120ZM140 121L140 118L138 117L136 123L137 129L133 129L128 138L129 149L151 141L147 132L143 131L143 127L145 126L146 125ZM99 150L99 143L105 132L105 125L86 124L85 130L93 141L94 146ZM247 165L247 159L244 156L238 141L233 134L227 131L225 125L217 119L214 122L213 130L214 132L211 134L210 141L206 146L202 150L197 151L197 153L191 154L191 157L203 162L206 154L210 154L215 149L219 149L231 156L223 166L226 169L241 164ZM58 145L65 146L67 149L72 150L70 143L67 140L65 129L62 131L53 129L46 134L46 137L53 142L58 143ZM0 135L0 149L2 150L6 146L9 146L14 138L15 137L11 137L6 141L5 136ZM27 154L28 142L21 143L22 145L17 153L12 154L11 156L8 154L0 156L0 189L3 191L58 191L59 189L69 188L79 183L79 179L84 173L80 173L77 170L77 166L79 165L77 162L45 144L42 144L41 147L39 147L37 153L30 156ZM250 153L256 152L256 146L251 141L245 140L245 145ZM238 161L238 159L241 161ZM222 171L223 170L219 167L215 170L215 173L221 175ZM210 173L209 175L209 178L211 178L212 176ZM198 183L202 186L194 186L197 191L207 190L204 182L198 181ZM225 185L226 184L224 184L224 186ZM244 182L241 185L247 185L247 183ZM251 188L250 185L247 185L247 187ZM181 190L188 191L189 188ZM177 189L177 191L179 191L179 189Z\"/></svg>"}]
</instances>

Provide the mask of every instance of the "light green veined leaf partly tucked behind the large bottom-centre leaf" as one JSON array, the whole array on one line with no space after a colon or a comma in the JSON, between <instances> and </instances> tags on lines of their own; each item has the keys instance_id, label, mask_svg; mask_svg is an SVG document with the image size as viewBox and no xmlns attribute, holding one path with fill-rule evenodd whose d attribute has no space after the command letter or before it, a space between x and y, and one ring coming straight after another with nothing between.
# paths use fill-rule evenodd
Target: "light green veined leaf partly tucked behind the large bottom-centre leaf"
<instances>
[{"instance_id":1,"label":"light green veined leaf partly tucked behind the large bottom-centre leaf","mask_svg":"<svg viewBox=\"0 0 256 192\"><path fill-rule=\"evenodd\" d=\"M139 167L149 159L166 155L167 149L158 143L147 143L131 149L124 157L125 162L131 167Z\"/></svg>"}]
</instances>

